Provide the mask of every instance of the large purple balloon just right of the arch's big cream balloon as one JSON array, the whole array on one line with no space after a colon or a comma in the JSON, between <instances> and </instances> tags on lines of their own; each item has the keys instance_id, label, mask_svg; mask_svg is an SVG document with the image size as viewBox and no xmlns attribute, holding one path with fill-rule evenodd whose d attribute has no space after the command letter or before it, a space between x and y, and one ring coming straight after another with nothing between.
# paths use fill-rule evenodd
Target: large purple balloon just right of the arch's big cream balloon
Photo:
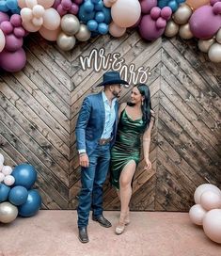
<instances>
[{"instance_id":1,"label":"large purple balloon just right of the arch's big cream balloon","mask_svg":"<svg viewBox=\"0 0 221 256\"><path fill-rule=\"evenodd\" d=\"M150 14L144 15L139 24L140 36L145 40L156 40L164 34L165 28L157 28Z\"/></svg>"}]
</instances>

